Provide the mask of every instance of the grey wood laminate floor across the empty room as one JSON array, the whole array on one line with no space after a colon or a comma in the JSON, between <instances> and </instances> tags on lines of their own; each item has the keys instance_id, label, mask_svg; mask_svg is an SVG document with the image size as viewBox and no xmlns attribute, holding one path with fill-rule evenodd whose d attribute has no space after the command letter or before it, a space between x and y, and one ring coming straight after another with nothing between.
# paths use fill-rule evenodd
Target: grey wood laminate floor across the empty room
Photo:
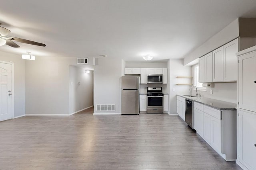
<instances>
[{"instance_id":1,"label":"grey wood laminate floor across the empty room","mask_svg":"<svg viewBox=\"0 0 256 170\"><path fill-rule=\"evenodd\" d=\"M240 169L178 116L92 113L0 122L0 169Z\"/></svg>"}]
</instances>

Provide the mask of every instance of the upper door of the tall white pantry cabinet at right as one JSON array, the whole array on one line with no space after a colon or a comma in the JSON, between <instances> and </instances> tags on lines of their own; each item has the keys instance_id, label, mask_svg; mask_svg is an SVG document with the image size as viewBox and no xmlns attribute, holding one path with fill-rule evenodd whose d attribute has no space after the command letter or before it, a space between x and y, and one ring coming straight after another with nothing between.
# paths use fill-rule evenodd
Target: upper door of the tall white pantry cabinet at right
<instances>
[{"instance_id":1,"label":"upper door of the tall white pantry cabinet at right","mask_svg":"<svg viewBox=\"0 0 256 170\"><path fill-rule=\"evenodd\" d=\"M248 53L239 57L239 108L256 112L256 57Z\"/></svg>"}]
</instances>

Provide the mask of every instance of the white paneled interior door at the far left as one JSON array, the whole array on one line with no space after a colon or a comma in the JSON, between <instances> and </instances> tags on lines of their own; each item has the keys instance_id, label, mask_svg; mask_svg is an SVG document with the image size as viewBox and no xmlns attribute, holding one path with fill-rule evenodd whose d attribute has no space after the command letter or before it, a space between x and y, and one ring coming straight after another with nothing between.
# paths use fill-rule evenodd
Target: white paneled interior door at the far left
<instances>
[{"instance_id":1,"label":"white paneled interior door at the far left","mask_svg":"<svg viewBox=\"0 0 256 170\"><path fill-rule=\"evenodd\" d=\"M0 63L0 121L12 119L12 64Z\"/></svg>"}]
</instances>

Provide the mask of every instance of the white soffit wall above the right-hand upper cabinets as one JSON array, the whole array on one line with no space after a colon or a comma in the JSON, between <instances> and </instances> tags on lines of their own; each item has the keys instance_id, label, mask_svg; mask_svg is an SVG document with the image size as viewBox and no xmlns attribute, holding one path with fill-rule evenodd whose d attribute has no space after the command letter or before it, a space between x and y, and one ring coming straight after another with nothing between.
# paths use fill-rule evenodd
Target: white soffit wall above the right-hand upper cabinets
<instances>
[{"instance_id":1,"label":"white soffit wall above the right-hand upper cabinets","mask_svg":"<svg viewBox=\"0 0 256 170\"><path fill-rule=\"evenodd\" d=\"M208 41L203 43L200 47L186 55L184 58L184 65L189 64L195 59L213 51L214 49L228 43L229 41L239 36L238 19L234 20L216 35L211 37Z\"/></svg>"}]
</instances>

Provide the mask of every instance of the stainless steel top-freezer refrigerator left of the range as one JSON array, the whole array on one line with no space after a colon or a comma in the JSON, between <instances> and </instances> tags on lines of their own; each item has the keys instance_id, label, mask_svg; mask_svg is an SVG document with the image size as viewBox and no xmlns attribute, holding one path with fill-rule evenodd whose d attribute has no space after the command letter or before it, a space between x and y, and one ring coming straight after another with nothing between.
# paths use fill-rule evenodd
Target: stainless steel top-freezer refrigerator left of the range
<instances>
[{"instance_id":1,"label":"stainless steel top-freezer refrigerator left of the range","mask_svg":"<svg viewBox=\"0 0 256 170\"><path fill-rule=\"evenodd\" d=\"M140 113L140 76L122 76L122 115Z\"/></svg>"}]
</instances>

